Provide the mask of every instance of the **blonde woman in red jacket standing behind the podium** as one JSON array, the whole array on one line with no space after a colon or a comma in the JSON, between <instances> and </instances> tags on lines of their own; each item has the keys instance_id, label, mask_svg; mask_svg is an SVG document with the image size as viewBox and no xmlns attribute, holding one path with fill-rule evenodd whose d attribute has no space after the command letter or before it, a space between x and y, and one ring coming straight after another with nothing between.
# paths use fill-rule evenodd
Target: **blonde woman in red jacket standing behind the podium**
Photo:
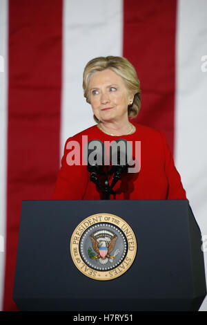
<instances>
[{"instance_id":1,"label":"blonde woman in red jacket standing behind the podium","mask_svg":"<svg viewBox=\"0 0 207 325\"><path fill-rule=\"evenodd\" d=\"M112 142L124 138L132 145L141 142L139 172L124 171L111 199L186 199L186 192L175 168L170 149L161 131L129 121L140 108L140 87L135 68L124 57L97 57L83 72L83 90L97 124L66 141L61 169L52 199L99 200L101 189L90 181L87 166L71 164L72 145L83 138ZM75 141L75 142L72 142ZM133 147L133 146L132 146ZM79 157L79 162L82 161ZM109 176L109 183L112 175Z\"/></svg>"}]
</instances>

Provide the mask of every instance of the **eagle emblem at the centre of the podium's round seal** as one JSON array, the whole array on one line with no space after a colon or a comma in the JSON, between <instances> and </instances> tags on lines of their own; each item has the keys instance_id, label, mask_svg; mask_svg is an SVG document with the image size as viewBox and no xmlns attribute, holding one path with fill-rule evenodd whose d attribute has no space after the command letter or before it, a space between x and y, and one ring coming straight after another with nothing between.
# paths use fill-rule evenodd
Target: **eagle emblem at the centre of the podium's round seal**
<instances>
[{"instance_id":1,"label":"eagle emblem at the centre of the podium's round seal","mask_svg":"<svg viewBox=\"0 0 207 325\"><path fill-rule=\"evenodd\" d=\"M111 254L115 249L115 243L117 241L117 234L109 230L99 230L90 235L92 248L96 252L92 253L89 248L88 254L92 259L98 259L101 264L106 264L108 261L112 263L116 255L119 254L119 250L116 250L114 254Z\"/></svg>"}]
</instances>

